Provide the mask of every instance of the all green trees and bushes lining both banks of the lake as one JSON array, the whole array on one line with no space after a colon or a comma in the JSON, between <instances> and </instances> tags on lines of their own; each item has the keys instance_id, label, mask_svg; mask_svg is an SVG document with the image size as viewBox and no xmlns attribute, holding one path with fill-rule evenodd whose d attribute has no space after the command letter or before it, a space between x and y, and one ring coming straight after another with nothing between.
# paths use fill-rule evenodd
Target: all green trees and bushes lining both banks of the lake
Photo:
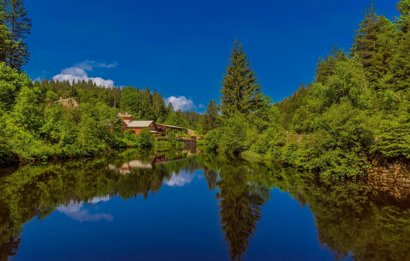
<instances>
[{"instance_id":1,"label":"all green trees and bushes lining both banks of the lake","mask_svg":"<svg viewBox=\"0 0 410 261\"><path fill-rule=\"evenodd\" d=\"M319 58L314 82L302 83L281 102L262 92L244 47L235 40L219 103L211 99L201 115L174 110L149 87L97 86L80 79L32 82L21 71L30 57L24 38L31 19L23 2L5 1L0 9L0 165L178 145L175 133L156 142L148 129L139 135L123 132L118 112L128 112L138 120L205 135L198 144L208 151L284 163L321 178L365 176L379 163L400 162L409 171L410 0L396 7L400 15L391 21L371 0L348 52L335 44ZM11 16L23 24L16 27ZM16 36L10 28L16 28ZM59 97L74 97L79 105L64 106Z\"/></svg>"}]
</instances>

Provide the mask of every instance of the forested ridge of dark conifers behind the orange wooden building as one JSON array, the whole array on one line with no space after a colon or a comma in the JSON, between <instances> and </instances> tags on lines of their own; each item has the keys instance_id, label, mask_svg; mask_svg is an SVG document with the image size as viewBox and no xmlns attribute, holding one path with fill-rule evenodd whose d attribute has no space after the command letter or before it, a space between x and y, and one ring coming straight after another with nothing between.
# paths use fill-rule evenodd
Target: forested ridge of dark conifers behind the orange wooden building
<instances>
[{"instance_id":1,"label":"forested ridge of dark conifers behind the orange wooden building","mask_svg":"<svg viewBox=\"0 0 410 261\"><path fill-rule=\"evenodd\" d=\"M193 110L175 110L172 103L166 105L162 94L157 90L151 91L149 86L145 89L132 86L105 87L96 85L91 79L71 82L43 79L41 82L34 81L34 85L51 90L57 94L56 97L74 97L80 104L101 101L120 112L132 114L135 120L153 120L156 123L196 130L202 118L201 114Z\"/></svg>"}]
</instances>

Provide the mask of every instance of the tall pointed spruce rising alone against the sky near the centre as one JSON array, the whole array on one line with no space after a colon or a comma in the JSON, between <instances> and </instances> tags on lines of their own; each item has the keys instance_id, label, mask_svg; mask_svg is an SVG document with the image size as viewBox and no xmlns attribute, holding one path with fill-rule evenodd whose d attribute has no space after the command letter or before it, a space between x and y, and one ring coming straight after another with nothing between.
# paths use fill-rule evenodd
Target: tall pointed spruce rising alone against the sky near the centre
<instances>
[{"instance_id":1,"label":"tall pointed spruce rising alone against the sky near the centre","mask_svg":"<svg viewBox=\"0 0 410 261\"><path fill-rule=\"evenodd\" d=\"M232 47L226 74L223 74L221 81L223 115L255 111L262 105L261 84L257 83L257 76L250 67L248 55L237 40Z\"/></svg>"}]
</instances>

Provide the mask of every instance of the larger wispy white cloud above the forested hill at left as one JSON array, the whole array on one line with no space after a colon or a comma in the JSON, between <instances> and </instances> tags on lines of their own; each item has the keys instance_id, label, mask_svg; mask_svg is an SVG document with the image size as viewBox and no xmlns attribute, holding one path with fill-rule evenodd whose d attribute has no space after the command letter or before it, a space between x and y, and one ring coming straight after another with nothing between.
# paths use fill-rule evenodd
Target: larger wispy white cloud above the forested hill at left
<instances>
[{"instance_id":1,"label":"larger wispy white cloud above the forested hill at left","mask_svg":"<svg viewBox=\"0 0 410 261\"><path fill-rule=\"evenodd\" d=\"M86 80L88 81L91 79L94 83L97 85L104 85L105 87L108 86L113 86L114 81L110 79L103 79L101 77L89 77L88 73L86 71L92 71L93 67L105 67L105 68L112 68L115 67L117 63L112 63L112 64L105 64L105 63L96 63L95 61L84 61L82 63L77 63L76 65L72 67L67 67L66 69L61 70L60 74L57 74L53 76L52 78L54 80L68 80L70 83L73 81L77 81L78 79L80 80Z\"/></svg>"}]
</instances>

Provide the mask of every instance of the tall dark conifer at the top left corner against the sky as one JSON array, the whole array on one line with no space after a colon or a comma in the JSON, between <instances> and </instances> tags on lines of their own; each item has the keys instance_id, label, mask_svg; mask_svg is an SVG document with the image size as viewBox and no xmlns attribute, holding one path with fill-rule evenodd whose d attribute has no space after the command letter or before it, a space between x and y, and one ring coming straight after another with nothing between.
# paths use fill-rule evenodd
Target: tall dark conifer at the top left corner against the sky
<instances>
[{"instance_id":1,"label":"tall dark conifer at the top left corner against the sky","mask_svg":"<svg viewBox=\"0 0 410 261\"><path fill-rule=\"evenodd\" d=\"M26 17L27 10L23 7L23 0L3 0L2 4L5 6L5 22L10 31L7 65L21 69L30 60L25 38L30 34L32 19Z\"/></svg>"}]
</instances>

